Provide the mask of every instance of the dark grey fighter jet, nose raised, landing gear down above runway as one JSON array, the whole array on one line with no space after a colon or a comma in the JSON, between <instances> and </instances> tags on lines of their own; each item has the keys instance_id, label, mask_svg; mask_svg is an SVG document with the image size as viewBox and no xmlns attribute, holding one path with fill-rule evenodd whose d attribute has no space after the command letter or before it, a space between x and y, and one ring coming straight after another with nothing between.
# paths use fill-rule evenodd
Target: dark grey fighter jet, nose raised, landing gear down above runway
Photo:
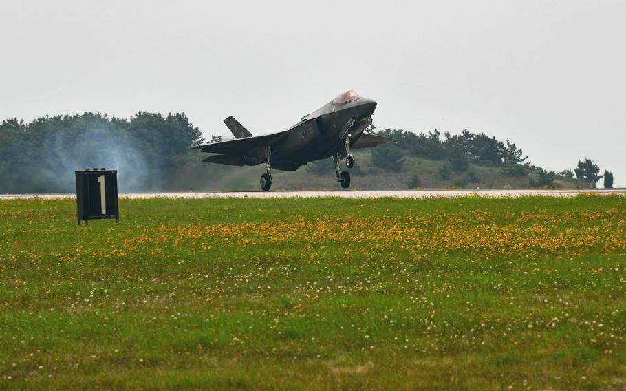
<instances>
[{"instance_id":1,"label":"dark grey fighter jet, nose raised, landing gear down above runway","mask_svg":"<svg viewBox=\"0 0 626 391\"><path fill-rule=\"evenodd\" d=\"M197 145L194 149L213 155L205 162L233 166L266 164L267 172L261 176L261 189L272 186L272 167L283 171L296 171L308 162L333 157L337 180L344 189L350 185L350 173L341 171L339 160L345 158L348 168L354 166L351 149L376 147L393 141L393 138L365 133L371 125L371 114L376 101L363 98L352 90L344 92L299 123L279 133L263 136L252 134L232 116L224 123L235 135L235 140Z\"/></svg>"}]
</instances>

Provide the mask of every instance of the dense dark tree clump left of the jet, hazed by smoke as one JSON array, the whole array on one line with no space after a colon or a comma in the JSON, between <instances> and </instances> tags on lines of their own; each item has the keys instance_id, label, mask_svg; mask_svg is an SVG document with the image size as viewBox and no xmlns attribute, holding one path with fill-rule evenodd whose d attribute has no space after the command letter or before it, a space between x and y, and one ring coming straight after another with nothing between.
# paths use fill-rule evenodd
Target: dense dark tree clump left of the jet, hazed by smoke
<instances>
[{"instance_id":1,"label":"dense dark tree clump left of the jet, hazed by smoke","mask_svg":"<svg viewBox=\"0 0 626 391\"><path fill-rule=\"evenodd\" d=\"M184 112L3 120L0 193L72 192L74 170L102 166L118 169L120 190L158 190L168 173L186 163L191 145L202 141Z\"/></svg>"}]
</instances>

